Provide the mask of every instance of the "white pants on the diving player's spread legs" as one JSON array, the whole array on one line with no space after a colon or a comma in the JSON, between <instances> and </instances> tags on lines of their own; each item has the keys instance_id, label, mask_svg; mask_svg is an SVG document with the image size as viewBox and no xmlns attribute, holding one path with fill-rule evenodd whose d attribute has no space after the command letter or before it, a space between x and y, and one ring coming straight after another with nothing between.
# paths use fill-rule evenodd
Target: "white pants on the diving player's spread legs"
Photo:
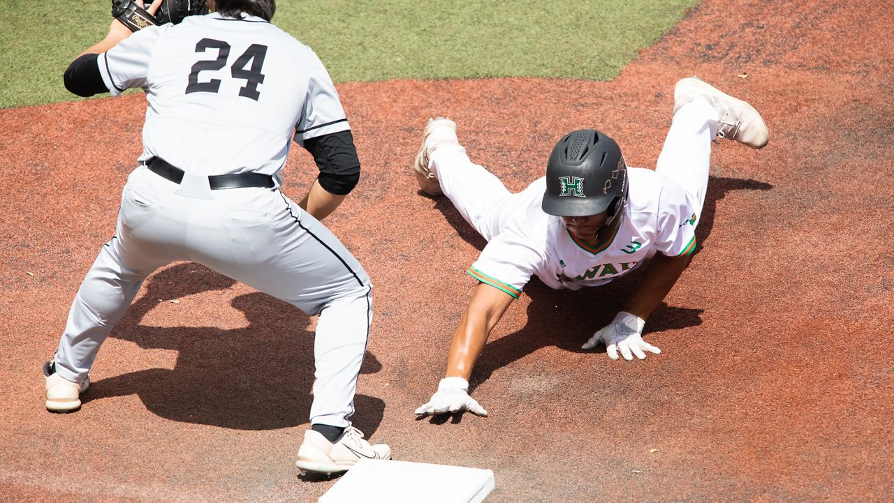
<instances>
[{"instance_id":1,"label":"white pants on the diving player's spread legs","mask_svg":"<svg viewBox=\"0 0 894 503\"><path fill-rule=\"evenodd\" d=\"M686 190L693 207L697 208L696 222L701 220L711 142L717 136L718 121L713 105L703 99L683 105L673 116L655 167L655 172ZM436 148L428 169L466 222L488 241L500 234L505 222L519 209L517 203L521 198L513 197L502 181L483 166L472 163L464 147Z\"/></svg>"}]
</instances>

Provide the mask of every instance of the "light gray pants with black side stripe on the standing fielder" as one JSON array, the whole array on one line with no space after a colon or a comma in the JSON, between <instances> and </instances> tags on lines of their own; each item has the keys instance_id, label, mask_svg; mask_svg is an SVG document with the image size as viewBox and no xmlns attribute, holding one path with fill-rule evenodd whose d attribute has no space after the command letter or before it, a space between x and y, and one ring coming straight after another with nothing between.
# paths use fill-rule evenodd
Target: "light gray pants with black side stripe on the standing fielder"
<instances>
[{"instance_id":1,"label":"light gray pants with black side stripe on the standing fielder","mask_svg":"<svg viewBox=\"0 0 894 503\"><path fill-rule=\"evenodd\" d=\"M367 273L342 243L276 189L181 185L139 167L122 192L115 237L103 246L72 303L56 372L80 381L100 345L157 268L206 265L308 314L319 314L311 423L348 426L372 321ZM234 379L236 369L221 369Z\"/></svg>"}]
</instances>

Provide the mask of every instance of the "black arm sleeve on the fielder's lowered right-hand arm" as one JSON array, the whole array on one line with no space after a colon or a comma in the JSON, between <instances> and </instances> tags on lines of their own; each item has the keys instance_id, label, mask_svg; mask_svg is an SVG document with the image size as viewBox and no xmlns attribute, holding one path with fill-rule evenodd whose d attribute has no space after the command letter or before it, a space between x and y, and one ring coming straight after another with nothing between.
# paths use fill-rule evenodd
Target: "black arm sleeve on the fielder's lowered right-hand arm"
<instances>
[{"instance_id":1,"label":"black arm sleeve on the fielder's lowered right-hand arm","mask_svg":"<svg viewBox=\"0 0 894 503\"><path fill-rule=\"evenodd\" d=\"M327 192L338 196L350 193L360 180L360 160L350 130L304 140L320 169L317 178Z\"/></svg>"}]
</instances>

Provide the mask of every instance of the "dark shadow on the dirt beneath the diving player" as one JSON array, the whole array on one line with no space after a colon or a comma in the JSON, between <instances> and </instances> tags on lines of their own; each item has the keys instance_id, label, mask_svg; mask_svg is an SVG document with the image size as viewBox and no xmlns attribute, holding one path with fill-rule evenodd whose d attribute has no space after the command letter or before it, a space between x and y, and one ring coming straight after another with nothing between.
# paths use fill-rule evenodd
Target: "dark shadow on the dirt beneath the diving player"
<instances>
[{"instance_id":1,"label":"dark shadow on the dirt beneath the diving player","mask_svg":"<svg viewBox=\"0 0 894 503\"><path fill-rule=\"evenodd\" d=\"M714 224L716 204L731 190L770 190L772 185L756 180L711 177L705 194L701 222L696 229L696 240L701 247L711 234ZM485 247L485 239L481 238L446 197L437 198L438 208L451 223L454 229L468 244L481 250ZM697 267L697 258L696 264ZM493 371L510 365L512 362L527 356L539 348L556 346L572 352L584 352L580 346L588 340L618 313L624 301L632 295L645 268L631 272L611 283L599 288L572 290L554 290L536 278L525 287L525 293L531 298L527 307L527 324L521 330L490 340L479 356L472 373L471 386L486 381ZM512 307L510 307L512 309ZM704 309L668 306L662 302L646 323L644 336L650 334L682 329L702 323L700 315ZM652 340L661 347L660 339ZM594 352L604 353L605 348L599 346ZM435 416L430 420L443 423L451 416ZM452 421L459 418L454 415Z\"/></svg>"}]
</instances>

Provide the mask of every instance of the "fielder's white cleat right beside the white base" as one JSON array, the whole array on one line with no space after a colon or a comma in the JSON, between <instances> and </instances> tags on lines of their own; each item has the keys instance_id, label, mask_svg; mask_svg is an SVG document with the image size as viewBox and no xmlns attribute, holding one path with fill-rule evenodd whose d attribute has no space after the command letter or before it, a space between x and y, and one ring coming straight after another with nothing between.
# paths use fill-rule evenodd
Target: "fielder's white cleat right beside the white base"
<instances>
[{"instance_id":1,"label":"fielder's white cleat right beside the white base","mask_svg":"<svg viewBox=\"0 0 894 503\"><path fill-rule=\"evenodd\" d=\"M353 426L349 426L335 443L326 440L320 432L308 430L304 432L295 465L308 472L334 474L350 470L361 457L391 459L391 448L385 444L370 444L363 439L363 432Z\"/></svg>"}]
</instances>

